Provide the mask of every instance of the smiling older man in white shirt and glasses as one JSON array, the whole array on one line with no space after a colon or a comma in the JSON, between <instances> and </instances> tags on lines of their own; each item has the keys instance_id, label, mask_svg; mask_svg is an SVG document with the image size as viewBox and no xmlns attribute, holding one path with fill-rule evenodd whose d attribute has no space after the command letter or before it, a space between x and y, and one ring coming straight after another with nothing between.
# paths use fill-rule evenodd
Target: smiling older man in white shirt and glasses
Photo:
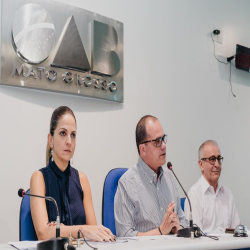
<instances>
[{"instance_id":1,"label":"smiling older man in white shirt and glasses","mask_svg":"<svg viewBox=\"0 0 250 250\"><path fill-rule=\"evenodd\" d=\"M203 232L225 231L240 224L231 191L219 182L223 157L216 141L205 141L198 151L202 176L188 192L193 221ZM189 218L189 204L185 214Z\"/></svg>"}]
</instances>

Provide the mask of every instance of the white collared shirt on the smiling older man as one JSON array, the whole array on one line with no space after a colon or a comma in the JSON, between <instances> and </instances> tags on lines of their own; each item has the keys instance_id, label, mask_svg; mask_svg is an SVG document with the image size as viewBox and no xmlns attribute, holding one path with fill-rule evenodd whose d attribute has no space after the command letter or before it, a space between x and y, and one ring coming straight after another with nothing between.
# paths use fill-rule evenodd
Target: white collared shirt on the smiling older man
<instances>
[{"instance_id":1,"label":"white collared shirt on the smiling older man","mask_svg":"<svg viewBox=\"0 0 250 250\"><path fill-rule=\"evenodd\" d=\"M192 204L193 222L205 233L225 231L240 224L231 191L218 182L216 192L201 176L188 192ZM189 219L188 200L185 201L185 215Z\"/></svg>"}]
</instances>

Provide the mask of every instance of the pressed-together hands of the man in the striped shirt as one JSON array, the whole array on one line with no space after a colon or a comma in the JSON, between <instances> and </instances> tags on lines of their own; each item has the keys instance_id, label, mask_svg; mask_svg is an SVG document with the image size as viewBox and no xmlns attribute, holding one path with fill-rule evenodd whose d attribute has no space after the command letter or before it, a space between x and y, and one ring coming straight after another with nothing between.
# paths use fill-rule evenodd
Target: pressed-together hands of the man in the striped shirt
<instances>
[{"instance_id":1,"label":"pressed-together hands of the man in the striped shirt","mask_svg":"<svg viewBox=\"0 0 250 250\"><path fill-rule=\"evenodd\" d=\"M168 205L163 222L160 225L160 229L161 229L162 234L169 234L173 227L177 227L179 229L179 227L178 227L178 225L180 226L179 218L178 218L176 212L173 212L174 208L175 208L175 204L172 201ZM178 223L177 223L177 220L178 220Z\"/></svg>"}]
</instances>

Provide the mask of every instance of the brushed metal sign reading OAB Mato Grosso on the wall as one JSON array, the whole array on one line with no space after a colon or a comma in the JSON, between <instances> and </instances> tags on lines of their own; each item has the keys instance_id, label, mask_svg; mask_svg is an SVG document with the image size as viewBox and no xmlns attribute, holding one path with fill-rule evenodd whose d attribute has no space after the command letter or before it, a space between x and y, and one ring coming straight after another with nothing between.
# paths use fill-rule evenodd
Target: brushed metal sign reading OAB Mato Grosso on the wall
<instances>
[{"instance_id":1,"label":"brushed metal sign reading OAB Mato Grosso on the wall","mask_svg":"<svg viewBox=\"0 0 250 250\"><path fill-rule=\"evenodd\" d=\"M123 24L52 1L2 1L1 84L123 102Z\"/></svg>"}]
</instances>

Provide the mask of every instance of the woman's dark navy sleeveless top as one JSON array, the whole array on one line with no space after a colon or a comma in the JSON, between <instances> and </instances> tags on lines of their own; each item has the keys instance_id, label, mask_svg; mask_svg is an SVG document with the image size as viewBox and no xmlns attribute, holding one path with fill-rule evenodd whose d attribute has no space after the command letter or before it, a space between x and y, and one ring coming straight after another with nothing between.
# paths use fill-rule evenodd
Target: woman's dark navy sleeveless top
<instances>
[{"instance_id":1,"label":"woman's dark navy sleeveless top","mask_svg":"<svg viewBox=\"0 0 250 250\"><path fill-rule=\"evenodd\" d=\"M53 197L58 205L60 220L64 225L84 225L86 216L83 207L83 190L79 173L68 164L62 172L54 161L40 169L43 174L46 196ZM56 221L56 207L53 202L46 201L49 222Z\"/></svg>"}]
</instances>

